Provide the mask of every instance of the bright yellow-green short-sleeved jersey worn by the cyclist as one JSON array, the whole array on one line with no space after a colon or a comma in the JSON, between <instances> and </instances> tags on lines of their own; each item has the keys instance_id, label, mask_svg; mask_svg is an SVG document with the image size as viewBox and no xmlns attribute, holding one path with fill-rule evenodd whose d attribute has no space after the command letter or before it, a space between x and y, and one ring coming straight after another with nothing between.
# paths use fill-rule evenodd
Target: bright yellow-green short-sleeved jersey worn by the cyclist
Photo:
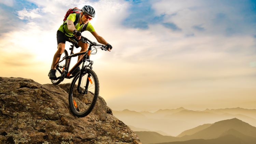
<instances>
[{"instance_id":1,"label":"bright yellow-green short-sleeved jersey worn by the cyclist","mask_svg":"<svg viewBox=\"0 0 256 144\"><path fill-rule=\"evenodd\" d=\"M76 15L76 14L70 14L70 15L67 17L67 20L69 19L69 20L72 20L72 21L74 22L74 21L75 21L75 15ZM63 33L65 33L64 30L63 30L63 27L64 27L64 29L65 29L65 31L66 31L65 34L66 34L68 37L73 37L73 36L74 36L73 31L69 31L69 30L68 30L68 25L65 24L65 23L67 23L67 20L59 27L58 30L61 31L61 32L63 32ZM65 24L65 25L64 25L64 24ZM84 24L82 24L82 25L80 26L80 24L77 23L77 24L75 25L75 28L76 28L76 30L81 31L82 28L83 28L83 26L84 26ZM87 31L89 31L89 32L94 32L94 31L95 31L94 28L93 28L93 25L91 25L90 22L88 23L88 25L87 25L87 27L86 27L85 30L87 30Z\"/></svg>"}]
</instances>

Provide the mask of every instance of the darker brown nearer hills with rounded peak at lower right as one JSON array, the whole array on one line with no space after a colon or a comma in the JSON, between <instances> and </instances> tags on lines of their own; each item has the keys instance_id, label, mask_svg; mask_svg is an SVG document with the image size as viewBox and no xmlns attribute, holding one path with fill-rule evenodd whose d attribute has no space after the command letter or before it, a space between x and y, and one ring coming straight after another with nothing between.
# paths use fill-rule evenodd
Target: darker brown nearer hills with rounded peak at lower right
<instances>
[{"instance_id":1,"label":"darker brown nearer hills with rounded peak at lower right","mask_svg":"<svg viewBox=\"0 0 256 144\"><path fill-rule=\"evenodd\" d=\"M256 127L237 118L205 124L186 130L179 136L163 136L156 132L139 131L143 144L255 144Z\"/></svg>"}]
</instances>

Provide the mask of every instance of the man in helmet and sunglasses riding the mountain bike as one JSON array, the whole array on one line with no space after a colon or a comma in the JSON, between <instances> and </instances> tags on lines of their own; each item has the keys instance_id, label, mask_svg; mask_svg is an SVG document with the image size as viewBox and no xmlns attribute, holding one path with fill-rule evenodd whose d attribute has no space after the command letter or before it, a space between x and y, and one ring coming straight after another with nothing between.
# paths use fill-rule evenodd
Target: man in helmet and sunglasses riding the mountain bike
<instances>
[{"instance_id":1,"label":"man in helmet and sunglasses riding the mountain bike","mask_svg":"<svg viewBox=\"0 0 256 144\"><path fill-rule=\"evenodd\" d=\"M68 41L69 38L76 39L78 42L77 45L75 45L76 48L81 47L80 52L85 52L88 49L89 44L88 43L83 43L81 39L81 32L83 32L82 29L86 27L85 30L91 32L93 36L96 38L96 40L101 43L106 45L106 48L108 48L108 51L112 49L112 46L106 42L101 36L99 36L96 31L94 30L94 27L91 25L89 22L93 17L95 17L95 10L93 7L89 5L85 5L81 9L81 13L79 15L79 19L76 20L76 14L72 13L67 17L67 20L59 27L57 31L57 44L58 44L58 49L57 52L55 53L53 57L53 63L51 70L49 71L49 78L51 80L56 80L56 66L57 63L60 59L61 54L65 50L65 43ZM77 21L77 24L74 25L74 22ZM78 56L77 61L82 57L82 55ZM80 68L77 67L76 70L73 72L73 74L76 74L77 72L80 71Z\"/></svg>"}]
</instances>

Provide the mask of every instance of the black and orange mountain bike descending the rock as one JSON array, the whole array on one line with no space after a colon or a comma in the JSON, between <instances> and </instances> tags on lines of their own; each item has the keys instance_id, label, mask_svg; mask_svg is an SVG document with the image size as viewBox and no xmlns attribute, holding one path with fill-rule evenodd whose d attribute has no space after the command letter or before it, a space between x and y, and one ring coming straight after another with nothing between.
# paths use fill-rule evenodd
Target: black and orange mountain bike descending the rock
<instances>
[{"instance_id":1,"label":"black and orange mountain bike descending the rock","mask_svg":"<svg viewBox=\"0 0 256 144\"><path fill-rule=\"evenodd\" d=\"M64 78L74 77L69 89L69 107L71 112L77 117L87 116L93 110L99 95L99 80L96 73L92 70L94 61L90 60L90 55L96 54L97 49L107 51L105 45L96 44L83 36L81 36L81 41L89 44L88 51L74 54L73 49L77 42L69 38L69 42L73 44L70 47L71 53L68 55L65 49L61 56L62 59L59 60L56 66L57 80L51 80L53 84L59 84ZM83 56L69 71L71 58L79 55ZM80 72L71 75L81 63L83 64Z\"/></svg>"}]
</instances>

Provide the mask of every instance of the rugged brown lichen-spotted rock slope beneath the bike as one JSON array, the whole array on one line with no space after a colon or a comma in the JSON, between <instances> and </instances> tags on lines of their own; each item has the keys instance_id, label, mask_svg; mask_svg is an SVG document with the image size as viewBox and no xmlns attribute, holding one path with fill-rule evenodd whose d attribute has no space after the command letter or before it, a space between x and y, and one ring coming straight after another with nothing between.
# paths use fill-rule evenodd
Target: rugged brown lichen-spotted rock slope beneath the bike
<instances>
[{"instance_id":1,"label":"rugged brown lichen-spotted rock slope beneath the bike","mask_svg":"<svg viewBox=\"0 0 256 144\"><path fill-rule=\"evenodd\" d=\"M140 143L102 97L86 117L72 115L69 87L0 77L0 143Z\"/></svg>"}]
</instances>

